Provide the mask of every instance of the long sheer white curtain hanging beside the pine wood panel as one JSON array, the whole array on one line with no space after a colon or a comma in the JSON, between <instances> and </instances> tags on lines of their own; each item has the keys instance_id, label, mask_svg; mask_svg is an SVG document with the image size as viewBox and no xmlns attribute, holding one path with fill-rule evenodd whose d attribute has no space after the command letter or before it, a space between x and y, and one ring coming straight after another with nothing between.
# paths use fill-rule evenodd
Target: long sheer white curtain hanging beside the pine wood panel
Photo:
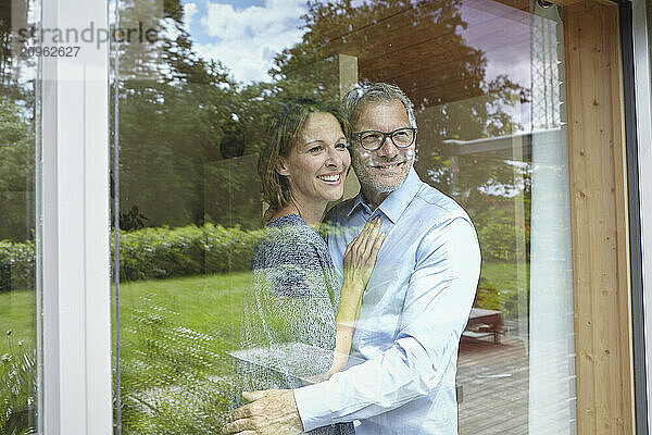
<instances>
[{"instance_id":1,"label":"long sheer white curtain hanging beside the pine wood panel","mask_svg":"<svg viewBox=\"0 0 652 435\"><path fill-rule=\"evenodd\" d=\"M575 345L563 28L531 15L529 433L575 434Z\"/></svg>"}]
</instances>

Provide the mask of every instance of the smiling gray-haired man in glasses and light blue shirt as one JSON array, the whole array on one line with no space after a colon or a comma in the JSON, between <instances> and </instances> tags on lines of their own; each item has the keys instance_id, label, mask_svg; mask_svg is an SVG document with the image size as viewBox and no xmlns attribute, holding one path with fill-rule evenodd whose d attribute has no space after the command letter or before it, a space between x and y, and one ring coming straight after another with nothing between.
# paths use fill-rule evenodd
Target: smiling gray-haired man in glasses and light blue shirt
<instances>
[{"instance_id":1,"label":"smiling gray-haired man in glasses and light blue shirt","mask_svg":"<svg viewBox=\"0 0 652 435\"><path fill-rule=\"evenodd\" d=\"M364 362L296 390L247 393L252 402L234 411L225 430L297 434L360 421L359 435L456 434L457 347L480 266L475 229L460 206L414 172L416 121L400 88L363 86L342 104L361 191L328 219L359 228L380 216L386 233L351 346L352 360ZM354 234L328 237L340 278Z\"/></svg>"}]
</instances>

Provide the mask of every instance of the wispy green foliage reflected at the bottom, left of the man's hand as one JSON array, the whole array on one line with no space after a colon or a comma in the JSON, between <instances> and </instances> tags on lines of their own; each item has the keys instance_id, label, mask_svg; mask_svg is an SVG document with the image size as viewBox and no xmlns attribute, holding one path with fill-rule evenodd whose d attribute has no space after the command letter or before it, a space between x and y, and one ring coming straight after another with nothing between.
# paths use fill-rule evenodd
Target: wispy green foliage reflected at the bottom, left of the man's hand
<instances>
[{"instance_id":1,"label":"wispy green foliage reflected at the bottom, left of the man's hand","mask_svg":"<svg viewBox=\"0 0 652 435\"><path fill-rule=\"evenodd\" d=\"M229 390L217 376L224 345L180 325L166 302L154 294L140 299L123 328L139 349L121 364L123 433L220 434Z\"/></svg>"}]
</instances>

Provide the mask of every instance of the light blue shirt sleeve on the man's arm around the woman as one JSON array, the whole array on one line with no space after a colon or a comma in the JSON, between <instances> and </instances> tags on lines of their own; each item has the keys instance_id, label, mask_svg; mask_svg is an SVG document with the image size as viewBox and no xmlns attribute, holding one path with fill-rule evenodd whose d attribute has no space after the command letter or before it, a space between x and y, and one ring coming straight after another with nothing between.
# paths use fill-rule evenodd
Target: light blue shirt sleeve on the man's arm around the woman
<instances>
[{"instance_id":1,"label":"light blue shirt sleeve on the man's arm around the woman","mask_svg":"<svg viewBox=\"0 0 652 435\"><path fill-rule=\"evenodd\" d=\"M479 270L471 222L448 217L435 224L417 249L393 346L327 382L296 389L304 430L367 419L436 388L455 363Z\"/></svg>"}]
</instances>

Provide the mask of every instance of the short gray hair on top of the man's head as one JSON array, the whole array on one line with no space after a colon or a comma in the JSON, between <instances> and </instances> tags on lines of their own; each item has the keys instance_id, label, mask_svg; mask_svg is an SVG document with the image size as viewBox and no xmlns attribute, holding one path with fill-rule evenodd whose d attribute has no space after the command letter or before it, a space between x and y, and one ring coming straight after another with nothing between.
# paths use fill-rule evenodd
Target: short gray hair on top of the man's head
<instances>
[{"instance_id":1,"label":"short gray hair on top of the man's head","mask_svg":"<svg viewBox=\"0 0 652 435\"><path fill-rule=\"evenodd\" d=\"M360 109L368 102L392 102L401 101L408 112L410 126L416 128L416 116L414 116L414 104L410 98L397 85L386 83L369 83L356 85L342 100L342 112L352 127L356 128Z\"/></svg>"}]
</instances>

